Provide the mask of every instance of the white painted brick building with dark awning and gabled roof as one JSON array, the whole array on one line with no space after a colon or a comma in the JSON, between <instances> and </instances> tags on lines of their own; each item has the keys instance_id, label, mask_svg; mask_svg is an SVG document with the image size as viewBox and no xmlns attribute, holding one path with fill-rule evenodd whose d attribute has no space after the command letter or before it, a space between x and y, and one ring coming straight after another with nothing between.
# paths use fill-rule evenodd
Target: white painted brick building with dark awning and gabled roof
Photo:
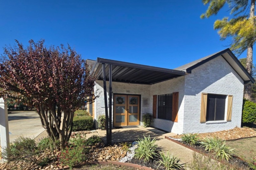
<instances>
[{"instance_id":1,"label":"white painted brick building with dark awning and gabled roof","mask_svg":"<svg viewBox=\"0 0 256 170\"><path fill-rule=\"evenodd\" d=\"M103 63L115 66L112 126L142 125L142 115L152 113L152 126L177 134L240 127L244 84L254 82L229 49L174 70L99 58L90 62L99 76L99 97L91 106L96 127L98 116L105 114Z\"/></svg>"}]
</instances>

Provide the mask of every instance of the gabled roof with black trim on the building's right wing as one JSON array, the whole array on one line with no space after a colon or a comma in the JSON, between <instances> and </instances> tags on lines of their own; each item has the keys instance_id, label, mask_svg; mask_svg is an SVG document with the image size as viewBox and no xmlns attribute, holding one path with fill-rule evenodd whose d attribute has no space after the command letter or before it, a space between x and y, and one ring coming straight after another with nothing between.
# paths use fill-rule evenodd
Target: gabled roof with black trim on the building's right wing
<instances>
[{"instance_id":1,"label":"gabled roof with black trim on the building's right wing","mask_svg":"<svg viewBox=\"0 0 256 170\"><path fill-rule=\"evenodd\" d=\"M254 83L254 78L248 73L248 71L243 67L240 61L236 58L233 52L228 48L222 51L216 52L209 56L203 57L201 59L195 60L193 62L187 63L183 66L175 68L175 70L186 71L186 73L191 73L191 71L202 64L215 59L218 56L222 56L228 64L235 70L235 72L243 79L244 84Z\"/></svg>"}]
</instances>

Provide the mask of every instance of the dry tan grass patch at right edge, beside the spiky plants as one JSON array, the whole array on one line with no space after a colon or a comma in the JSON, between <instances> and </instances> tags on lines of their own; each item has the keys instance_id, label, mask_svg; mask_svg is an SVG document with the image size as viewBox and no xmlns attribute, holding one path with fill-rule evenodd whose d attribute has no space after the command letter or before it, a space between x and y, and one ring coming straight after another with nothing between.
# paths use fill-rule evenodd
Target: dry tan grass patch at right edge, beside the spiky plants
<instances>
[{"instance_id":1,"label":"dry tan grass patch at right edge, beside the spiky plants","mask_svg":"<svg viewBox=\"0 0 256 170\"><path fill-rule=\"evenodd\" d=\"M253 158L256 157L256 137L227 141L226 144L232 148L235 148L235 155L241 157L248 163L253 162Z\"/></svg>"}]
</instances>

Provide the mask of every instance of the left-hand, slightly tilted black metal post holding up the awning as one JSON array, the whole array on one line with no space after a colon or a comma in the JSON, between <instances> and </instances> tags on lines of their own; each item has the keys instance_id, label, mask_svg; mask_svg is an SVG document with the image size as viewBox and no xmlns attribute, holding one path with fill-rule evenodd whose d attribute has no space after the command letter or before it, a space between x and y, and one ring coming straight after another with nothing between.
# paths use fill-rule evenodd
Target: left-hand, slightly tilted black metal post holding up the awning
<instances>
[{"instance_id":1,"label":"left-hand, slightly tilted black metal post holding up the awning","mask_svg":"<svg viewBox=\"0 0 256 170\"><path fill-rule=\"evenodd\" d=\"M105 102L105 116L106 116L106 132L107 132L107 143L106 145L109 146L109 129L108 129L108 113L107 113L107 85L106 85L106 72L105 72L105 64L102 64L102 73L103 73L103 89L104 89L104 102Z\"/></svg>"}]
</instances>

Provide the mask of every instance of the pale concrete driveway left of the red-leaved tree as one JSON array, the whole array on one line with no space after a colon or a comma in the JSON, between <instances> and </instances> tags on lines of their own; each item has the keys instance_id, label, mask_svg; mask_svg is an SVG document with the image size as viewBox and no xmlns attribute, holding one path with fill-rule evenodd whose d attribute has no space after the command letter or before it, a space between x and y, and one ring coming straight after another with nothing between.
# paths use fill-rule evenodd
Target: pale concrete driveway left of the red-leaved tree
<instances>
[{"instance_id":1,"label":"pale concrete driveway left of the red-leaved tree","mask_svg":"<svg viewBox=\"0 0 256 170\"><path fill-rule=\"evenodd\" d=\"M45 130L41 125L39 115L35 111L11 111L11 113L8 113L8 120L10 142L13 142L19 136L34 139Z\"/></svg>"}]
</instances>

